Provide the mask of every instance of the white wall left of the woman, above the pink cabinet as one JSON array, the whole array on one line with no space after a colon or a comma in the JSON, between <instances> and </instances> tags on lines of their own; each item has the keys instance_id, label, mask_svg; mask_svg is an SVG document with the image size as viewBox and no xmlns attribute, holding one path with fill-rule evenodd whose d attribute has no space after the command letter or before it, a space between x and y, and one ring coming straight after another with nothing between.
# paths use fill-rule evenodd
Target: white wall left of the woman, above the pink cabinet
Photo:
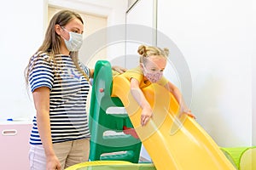
<instances>
[{"instance_id":1,"label":"white wall left of the woman, above the pink cabinet","mask_svg":"<svg viewBox=\"0 0 256 170\"><path fill-rule=\"evenodd\" d=\"M0 119L31 116L24 70L44 37L44 0L10 0L0 6L2 16L0 62ZM27 94L28 92L28 94Z\"/></svg>"}]
</instances>

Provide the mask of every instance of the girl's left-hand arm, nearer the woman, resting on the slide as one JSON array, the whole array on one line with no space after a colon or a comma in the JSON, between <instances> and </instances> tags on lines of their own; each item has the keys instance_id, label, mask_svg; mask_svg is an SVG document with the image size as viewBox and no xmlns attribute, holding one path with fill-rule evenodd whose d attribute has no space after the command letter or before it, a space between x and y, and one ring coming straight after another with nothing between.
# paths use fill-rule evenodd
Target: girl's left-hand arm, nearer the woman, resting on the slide
<instances>
[{"instance_id":1,"label":"girl's left-hand arm, nearer the woman, resting on the slide","mask_svg":"<svg viewBox=\"0 0 256 170\"><path fill-rule=\"evenodd\" d=\"M141 124L145 126L150 117L153 116L151 106L145 98L143 91L139 88L139 82L135 78L131 78L131 95L136 99L138 105L143 109L141 116Z\"/></svg>"}]
</instances>

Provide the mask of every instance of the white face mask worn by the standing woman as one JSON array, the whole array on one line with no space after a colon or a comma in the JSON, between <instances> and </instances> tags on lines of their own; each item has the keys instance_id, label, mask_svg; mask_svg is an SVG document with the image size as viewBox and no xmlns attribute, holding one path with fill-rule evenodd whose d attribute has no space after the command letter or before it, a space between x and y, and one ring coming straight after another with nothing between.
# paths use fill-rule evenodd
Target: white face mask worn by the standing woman
<instances>
[{"instance_id":1,"label":"white face mask worn by the standing woman","mask_svg":"<svg viewBox=\"0 0 256 170\"><path fill-rule=\"evenodd\" d=\"M67 31L64 27L62 27L63 30ZM75 33L73 31L67 31L69 33L69 40L66 40L65 38L65 44L69 51L79 51L83 44L83 35L79 33Z\"/></svg>"}]
</instances>

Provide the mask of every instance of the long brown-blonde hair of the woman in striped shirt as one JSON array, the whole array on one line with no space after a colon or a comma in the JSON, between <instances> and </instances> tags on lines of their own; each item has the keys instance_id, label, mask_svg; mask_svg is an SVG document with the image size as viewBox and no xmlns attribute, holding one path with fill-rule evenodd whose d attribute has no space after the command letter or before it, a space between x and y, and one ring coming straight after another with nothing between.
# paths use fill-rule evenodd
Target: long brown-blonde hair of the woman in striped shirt
<instances>
[{"instance_id":1,"label":"long brown-blonde hair of the woman in striped shirt","mask_svg":"<svg viewBox=\"0 0 256 170\"><path fill-rule=\"evenodd\" d=\"M54 63L54 68L56 70L60 69L58 67L58 65L56 64L55 61L55 55L56 54L61 54L61 36L59 36L56 32L55 32L55 25L60 25L60 26L66 26L68 22L70 22L73 19L79 19L82 24L84 24L84 21L82 19L82 17L70 10L61 10L60 12L56 13L52 19L49 21L49 26L47 28L47 31L45 33L45 37L44 37L44 42L41 45L40 48L38 48L37 52L35 54L37 54L38 56L40 56L40 54L49 54L49 60L52 60ZM83 76L89 80L89 77L84 73L84 71L80 68L79 66L79 59L78 59L78 52L71 52L70 56L73 59L73 63L74 65L76 65L76 68L83 74ZM34 56L34 55L33 55ZM26 85L28 84L28 76L29 76L29 67L33 65L35 62L32 62L33 56L29 59L29 63L26 66L25 69L25 78L26 78ZM55 71L56 73L56 71ZM57 75L58 76L58 75Z\"/></svg>"}]
</instances>

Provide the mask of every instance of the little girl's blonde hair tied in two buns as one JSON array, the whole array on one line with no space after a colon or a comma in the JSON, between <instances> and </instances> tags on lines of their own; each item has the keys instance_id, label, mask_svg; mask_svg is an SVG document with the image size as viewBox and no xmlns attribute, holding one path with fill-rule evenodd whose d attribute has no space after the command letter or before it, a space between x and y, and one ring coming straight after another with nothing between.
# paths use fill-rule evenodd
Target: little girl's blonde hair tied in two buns
<instances>
[{"instance_id":1,"label":"little girl's blonde hair tied in two buns","mask_svg":"<svg viewBox=\"0 0 256 170\"><path fill-rule=\"evenodd\" d=\"M168 58L169 49L168 48L158 48L153 46L141 45L137 49L137 53L140 54L140 63L145 64L147 57L151 55L159 55Z\"/></svg>"}]
</instances>

